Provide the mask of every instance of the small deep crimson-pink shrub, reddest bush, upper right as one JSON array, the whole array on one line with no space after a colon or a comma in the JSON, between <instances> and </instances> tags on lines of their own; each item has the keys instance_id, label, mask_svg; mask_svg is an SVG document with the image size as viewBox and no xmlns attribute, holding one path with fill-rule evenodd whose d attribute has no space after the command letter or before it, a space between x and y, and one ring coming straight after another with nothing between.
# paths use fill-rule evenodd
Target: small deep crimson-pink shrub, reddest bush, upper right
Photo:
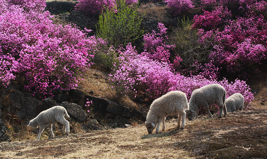
<instances>
[{"instance_id":1,"label":"small deep crimson-pink shrub, reddest bush, upper right","mask_svg":"<svg viewBox=\"0 0 267 159\"><path fill-rule=\"evenodd\" d=\"M230 16L231 12L228 11L227 7L225 9L222 6L215 7L212 12L204 11L203 15L195 15L192 28L202 28L204 30L219 28L228 22Z\"/></svg>"}]
</instances>

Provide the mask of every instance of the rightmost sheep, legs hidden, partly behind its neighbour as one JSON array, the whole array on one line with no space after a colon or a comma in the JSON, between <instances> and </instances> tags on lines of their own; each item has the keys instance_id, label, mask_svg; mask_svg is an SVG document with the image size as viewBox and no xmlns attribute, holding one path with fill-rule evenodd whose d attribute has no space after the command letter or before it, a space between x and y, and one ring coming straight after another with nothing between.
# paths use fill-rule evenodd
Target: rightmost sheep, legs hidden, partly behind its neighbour
<instances>
[{"instance_id":1,"label":"rightmost sheep, legs hidden, partly behind its neighbour","mask_svg":"<svg viewBox=\"0 0 267 159\"><path fill-rule=\"evenodd\" d=\"M234 93L232 96L225 100L227 112L233 112L236 110L243 110L244 97L240 93Z\"/></svg>"}]
</instances>

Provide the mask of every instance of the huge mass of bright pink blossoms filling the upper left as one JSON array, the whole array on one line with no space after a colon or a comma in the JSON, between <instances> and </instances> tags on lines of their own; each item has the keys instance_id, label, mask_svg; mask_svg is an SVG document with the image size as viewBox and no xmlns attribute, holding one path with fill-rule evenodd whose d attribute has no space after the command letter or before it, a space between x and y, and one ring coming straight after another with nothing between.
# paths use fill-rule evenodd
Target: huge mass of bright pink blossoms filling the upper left
<instances>
[{"instance_id":1,"label":"huge mass of bright pink blossoms filling the upper left","mask_svg":"<svg viewBox=\"0 0 267 159\"><path fill-rule=\"evenodd\" d=\"M39 0L26 2L33 6ZM80 31L75 26L55 25L49 12L25 10L24 3L18 6L0 0L0 4L3 85L23 80L24 88L41 98L77 87L77 76L90 67L98 44L104 44L104 40L88 37L86 28Z\"/></svg>"}]
</instances>

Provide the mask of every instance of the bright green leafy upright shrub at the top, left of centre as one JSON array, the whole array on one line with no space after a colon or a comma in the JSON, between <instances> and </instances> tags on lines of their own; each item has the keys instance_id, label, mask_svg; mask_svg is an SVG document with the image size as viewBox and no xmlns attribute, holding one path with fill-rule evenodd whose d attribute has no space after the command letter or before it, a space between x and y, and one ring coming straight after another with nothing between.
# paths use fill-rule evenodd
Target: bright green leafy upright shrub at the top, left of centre
<instances>
[{"instance_id":1,"label":"bright green leafy upright shrub at the top, left of centre","mask_svg":"<svg viewBox=\"0 0 267 159\"><path fill-rule=\"evenodd\" d=\"M142 36L142 17L137 13L137 4L128 5L125 0L117 0L117 12L106 10L99 15L97 35L107 39L109 46L126 46Z\"/></svg>"}]
</instances>

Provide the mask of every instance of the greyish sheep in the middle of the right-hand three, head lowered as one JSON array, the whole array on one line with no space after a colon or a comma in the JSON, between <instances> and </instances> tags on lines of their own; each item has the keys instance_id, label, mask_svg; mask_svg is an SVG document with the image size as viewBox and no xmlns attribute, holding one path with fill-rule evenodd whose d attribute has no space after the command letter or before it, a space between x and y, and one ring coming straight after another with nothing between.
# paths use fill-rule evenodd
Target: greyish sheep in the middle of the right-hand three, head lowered
<instances>
[{"instance_id":1,"label":"greyish sheep in the middle of the right-hand three, head lowered","mask_svg":"<svg viewBox=\"0 0 267 159\"><path fill-rule=\"evenodd\" d=\"M209 112L209 106L213 104L217 104L220 108L218 117L220 118L222 116L222 110L224 117L226 117L225 96L225 89L218 84L210 84L194 90L189 100L189 110L186 110L186 117L189 120L193 120L193 117L196 116L195 119L197 119L199 109L204 107L209 114L209 118L212 118L212 114Z\"/></svg>"}]
</instances>

